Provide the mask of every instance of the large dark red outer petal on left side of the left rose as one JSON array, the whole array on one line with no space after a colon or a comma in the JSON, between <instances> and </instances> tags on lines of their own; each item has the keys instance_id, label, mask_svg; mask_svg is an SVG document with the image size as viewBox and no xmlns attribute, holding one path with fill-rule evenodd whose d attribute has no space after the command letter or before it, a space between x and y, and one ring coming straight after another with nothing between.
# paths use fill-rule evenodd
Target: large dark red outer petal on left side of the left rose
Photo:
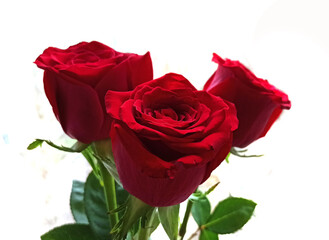
<instances>
[{"instance_id":1,"label":"large dark red outer petal on left side of the left rose","mask_svg":"<svg viewBox=\"0 0 329 240\"><path fill-rule=\"evenodd\" d=\"M47 70L44 86L55 116L67 135L90 143L105 134L101 133L104 113L98 95L91 87L72 84Z\"/></svg>"}]
</instances>

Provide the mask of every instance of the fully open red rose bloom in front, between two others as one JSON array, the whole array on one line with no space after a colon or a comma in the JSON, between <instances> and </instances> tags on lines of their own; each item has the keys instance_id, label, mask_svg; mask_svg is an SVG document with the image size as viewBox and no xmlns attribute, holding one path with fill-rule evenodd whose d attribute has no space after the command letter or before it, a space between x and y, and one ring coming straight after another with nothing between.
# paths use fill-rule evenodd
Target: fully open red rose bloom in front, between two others
<instances>
[{"instance_id":1,"label":"fully open red rose bloom in front, between two others","mask_svg":"<svg viewBox=\"0 0 329 240\"><path fill-rule=\"evenodd\" d=\"M105 104L122 185L151 206L188 198L226 157L238 125L233 104L177 74L108 91Z\"/></svg>"}]
</instances>

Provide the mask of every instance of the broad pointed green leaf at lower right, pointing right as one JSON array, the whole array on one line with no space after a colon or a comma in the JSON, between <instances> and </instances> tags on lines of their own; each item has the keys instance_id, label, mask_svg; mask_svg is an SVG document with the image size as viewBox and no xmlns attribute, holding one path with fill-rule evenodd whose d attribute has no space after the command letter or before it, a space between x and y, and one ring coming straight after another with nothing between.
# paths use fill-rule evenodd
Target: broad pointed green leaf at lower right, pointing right
<instances>
[{"instance_id":1,"label":"broad pointed green leaf at lower right, pointing right","mask_svg":"<svg viewBox=\"0 0 329 240\"><path fill-rule=\"evenodd\" d=\"M202 227L218 234L234 233L249 221L255 207L251 200L229 197L217 204Z\"/></svg>"}]
</instances>

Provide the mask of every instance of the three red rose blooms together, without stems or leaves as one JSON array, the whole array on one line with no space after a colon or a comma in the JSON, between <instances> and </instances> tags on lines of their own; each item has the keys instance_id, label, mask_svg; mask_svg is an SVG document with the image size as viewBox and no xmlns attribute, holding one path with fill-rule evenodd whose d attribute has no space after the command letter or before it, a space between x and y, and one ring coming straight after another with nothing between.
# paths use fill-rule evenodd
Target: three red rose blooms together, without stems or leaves
<instances>
[{"instance_id":1,"label":"three red rose blooms together, without stems or leaves","mask_svg":"<svg viewBox=\"0 0 329 240\"><path fill-rule=\"evenodd\" d=\"M99 42L50 47L35 63L64 132L90 144L111 139L124 189L151 206L187 199L225 159L265 136L288 96L238 61L214 54L218 69L199 91L182 75L153 79L150 54Z\"/></svg>"}]
</instances>

